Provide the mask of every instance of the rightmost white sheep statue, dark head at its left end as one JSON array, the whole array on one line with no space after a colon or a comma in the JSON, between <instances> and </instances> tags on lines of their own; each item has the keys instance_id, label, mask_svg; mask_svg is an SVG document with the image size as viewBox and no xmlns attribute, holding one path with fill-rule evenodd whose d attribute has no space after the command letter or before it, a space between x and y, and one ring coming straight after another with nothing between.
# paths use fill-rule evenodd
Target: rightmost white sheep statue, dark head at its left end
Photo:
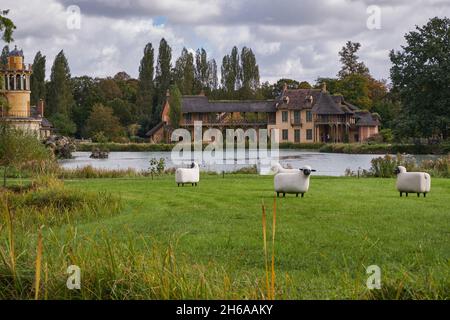
<instances>
[{"instance_id":1,"label":"rightmost white sheep statue, dark head at its left end","mask_svg":"<svg viewBox=\"0 0 450 320\"><path fill-rule=\"evenodd\" d=\"M418 197L421 193L426 197L427 193L430 192L431 177L428 173L406 172L405 167L398 166L395 169L395 174L397 175L397 190L400 192L400 197L403 196L403 192L406 193L406 196L408 196L408 193L417 193Z\"/></svg>"}]
</instances>

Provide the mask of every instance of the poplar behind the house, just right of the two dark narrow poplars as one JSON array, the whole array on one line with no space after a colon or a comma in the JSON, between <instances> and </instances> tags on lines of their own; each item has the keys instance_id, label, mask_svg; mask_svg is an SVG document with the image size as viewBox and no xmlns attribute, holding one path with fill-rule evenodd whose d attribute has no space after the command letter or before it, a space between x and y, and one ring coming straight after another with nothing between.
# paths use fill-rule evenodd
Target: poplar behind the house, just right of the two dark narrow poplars
<instances>
[{"instance_id":1,"label":"poplar behind the house, just right of the two dark narrow poplars","mask_svg":"<svg viewBox=\"0 0 450 320\"><path fill-rule=\"evenodd\" d=\"M174 68L174 80L183 95L191 95L194 91L194 56L183 48Z\"/></svg>"}]
</instances>

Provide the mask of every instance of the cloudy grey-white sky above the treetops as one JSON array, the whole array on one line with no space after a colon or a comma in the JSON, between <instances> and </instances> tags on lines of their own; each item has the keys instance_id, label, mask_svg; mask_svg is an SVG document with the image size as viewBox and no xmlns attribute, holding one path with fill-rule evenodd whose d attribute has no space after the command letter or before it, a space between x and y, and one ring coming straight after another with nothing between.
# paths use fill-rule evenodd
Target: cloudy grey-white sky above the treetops
<instances>
[{"instance_id":1,"label":"cloudy grey-white sky above the treetops","mask_svg":"<svg viewBox=\"0 0 450 320\"><path fill-rule=\"evenodd\" d=\"M72 76L137 77L143 50L164 37L174 59L183 47L215 58L236 45L256 54L261 81L314 83L334 77L338 52L361 43L360 59L376 79L389 80L389 51L430 18L450 17L449 0L2 0L17 26L15 42L32 63L47 57L47 77L64 50ZM219 72L220 77L220 72Z\"/></svg>"}]
</instances>

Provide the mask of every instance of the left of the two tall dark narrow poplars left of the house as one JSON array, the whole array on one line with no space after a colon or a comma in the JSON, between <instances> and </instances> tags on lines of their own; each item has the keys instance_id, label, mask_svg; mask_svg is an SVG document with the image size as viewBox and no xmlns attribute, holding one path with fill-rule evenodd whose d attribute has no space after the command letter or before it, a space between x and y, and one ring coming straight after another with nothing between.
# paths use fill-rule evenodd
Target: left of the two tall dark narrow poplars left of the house
<instances>
[{"instance_id":1,"label":"left of the two tall dark narrow poplars left of the house","mask_svg":"<svg viewBox=\"0 0 450 320\"><path fill-rule=\"evenodd\" d=\"M137 112L139 116L151 116L153 113L153 98L155 86L153 83L155 50L151 43L144 48L144 56L139 66L139 84L137 90Z\"/></svg>"}]
</instances>

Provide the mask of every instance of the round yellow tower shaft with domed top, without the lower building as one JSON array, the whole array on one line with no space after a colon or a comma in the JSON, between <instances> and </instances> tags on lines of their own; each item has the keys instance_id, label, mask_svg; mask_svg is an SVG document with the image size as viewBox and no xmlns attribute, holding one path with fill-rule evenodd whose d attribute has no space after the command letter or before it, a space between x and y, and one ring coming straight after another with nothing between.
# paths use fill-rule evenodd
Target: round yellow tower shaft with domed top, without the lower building
<instances>
[{"instance_id":1,"label":"round yellow tower shaft with domed top, without the lower building","mask_svg":"<svg viewBox=\"0 0 450 320\"><path fill-rule=\"evenodd\" d=\"M6 68L0 71L3 77L2 94L8 100L8 108L2 110L2 117L30 117L31 65L25 65L23 52L17 46L8 55Z\"/></svg>"}]
</instances>

